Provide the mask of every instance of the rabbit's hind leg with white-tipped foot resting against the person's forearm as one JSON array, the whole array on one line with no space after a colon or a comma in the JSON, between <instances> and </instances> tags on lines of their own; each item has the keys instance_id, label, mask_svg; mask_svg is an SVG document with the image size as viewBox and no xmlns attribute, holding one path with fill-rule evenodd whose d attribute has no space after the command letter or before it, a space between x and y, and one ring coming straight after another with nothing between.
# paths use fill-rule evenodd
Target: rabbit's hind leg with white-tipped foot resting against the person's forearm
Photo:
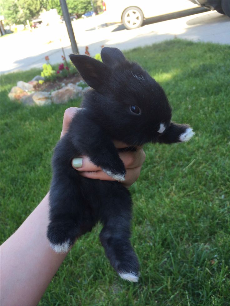
<instances>
[{"instance_id":1,"label":"rabbit's hind leg with white-tipped foot resting against the person's forearm","mask_svg":"<svg viewBox=\"0 0 230 306\"><path fill-rule=\"evenodd\" d=\"M57 253L68 252L83 232L82 199L77 184L67 176L53 177L49 194L49 220L47 238ZM86 231L85 231L86 232Z\"/></svg>"}]
</instances>

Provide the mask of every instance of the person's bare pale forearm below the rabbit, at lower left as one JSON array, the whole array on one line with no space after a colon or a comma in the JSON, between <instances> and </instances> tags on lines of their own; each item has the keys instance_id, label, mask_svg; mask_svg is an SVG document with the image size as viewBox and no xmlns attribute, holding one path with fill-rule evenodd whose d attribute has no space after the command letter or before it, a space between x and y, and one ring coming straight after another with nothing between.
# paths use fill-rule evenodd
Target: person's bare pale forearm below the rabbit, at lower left
<instances>
[{"instance_id":1,"label":"person's bare pale forearm below the rabbit, at lower left","mask_svg":"<svg viewBox=\"0 0 230 306\"><path fill-rule=\"evenodd\" d=\"M67 254L46 238L48 194L1 245L1 306L37 305Z\"/></svg>"}]
</instances>

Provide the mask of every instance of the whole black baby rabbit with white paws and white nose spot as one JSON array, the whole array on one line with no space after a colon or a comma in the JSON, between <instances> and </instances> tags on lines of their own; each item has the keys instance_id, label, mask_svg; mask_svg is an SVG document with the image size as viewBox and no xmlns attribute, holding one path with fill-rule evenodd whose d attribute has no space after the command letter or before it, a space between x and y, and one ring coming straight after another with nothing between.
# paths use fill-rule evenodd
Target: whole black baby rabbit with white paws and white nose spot
<instances>
[{"instance_id":1,"label":"whole black baby rabbit with white paws and white nose spot","mask_svg":"<svg viewBox=\"0 0 230 306\"><path fill-rule=\"evenodd\" d=\"M139 263L130 243L132 199L120 183L125 168L113 140L135 150L148 142L185 142L194 133L186 124L171 122L164 90L138 64L117 48L104 47L101 57L103 62L70 55L91 89L54 150L47 237L53 250L67 252L100 221L100 240L111 265L121 278L137 282ZM71 161L83 155L116 181L80 176Z\"/></svg>"}]
</instances>

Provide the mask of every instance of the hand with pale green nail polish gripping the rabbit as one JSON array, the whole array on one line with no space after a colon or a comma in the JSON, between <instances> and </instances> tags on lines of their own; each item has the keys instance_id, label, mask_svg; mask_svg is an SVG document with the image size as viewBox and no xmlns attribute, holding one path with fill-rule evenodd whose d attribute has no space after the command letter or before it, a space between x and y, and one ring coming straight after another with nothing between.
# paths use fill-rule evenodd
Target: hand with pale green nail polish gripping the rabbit
<instances>
[{"instance_id":1,"label":"hand with pale green nail polish gripping the rabbit","mask_svg":"<svg viewBox=\"0 0 230 306\"><path fill-rule=\"evenodd\" d=\"M61 137L67 132L69 123L71 122L74 114L78 112L80 108L70 107L66 109L63 118L63 128L61 132ZM126 148L127 144L120 141L114 141L116 148ZM125 187L130 187L139 177L141 172L141 167L145 161L145 153L142 147L136 147L135 152L119 152L119 156L123 161L126 169L125 181L122 184ZM72 160L72 166L74 169L80 172L83 177L88 177L92 179L99 179L104 181L114 181L114 179L108 176L101 168L95 166L87 156L81 156L74 158Z\"/></svg>"}]
</instances>

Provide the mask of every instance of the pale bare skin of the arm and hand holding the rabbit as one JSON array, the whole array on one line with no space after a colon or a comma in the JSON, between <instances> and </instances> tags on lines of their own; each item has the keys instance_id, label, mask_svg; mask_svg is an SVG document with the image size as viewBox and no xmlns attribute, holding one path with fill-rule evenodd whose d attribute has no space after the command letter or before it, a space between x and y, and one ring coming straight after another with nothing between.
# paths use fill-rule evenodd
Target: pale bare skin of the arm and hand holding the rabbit
<instances>
[{"instance_id":1,"label":"pale bare skin of the arm and hand holding the rabbit","mask_svg":"<svg viewBox=\"0 0 230 306\"><path fill-rule=\"evenodd\" d=\"M78 108L65 111L61 137L67 132L68 125ZM114 142L117 148L127 147ZM141 147L136 152L119 154L126 168L123 185L129 187L135 182L145 160ZM113 180L100 168L82 156L83 164L76 171L92 179ZM37 305L48 284L65 259L65 254L55 253L46 238L48 225L48 193L35 210L27 217L17 231L1 245L1 306Z\"/></svg>"}]
</instances>

